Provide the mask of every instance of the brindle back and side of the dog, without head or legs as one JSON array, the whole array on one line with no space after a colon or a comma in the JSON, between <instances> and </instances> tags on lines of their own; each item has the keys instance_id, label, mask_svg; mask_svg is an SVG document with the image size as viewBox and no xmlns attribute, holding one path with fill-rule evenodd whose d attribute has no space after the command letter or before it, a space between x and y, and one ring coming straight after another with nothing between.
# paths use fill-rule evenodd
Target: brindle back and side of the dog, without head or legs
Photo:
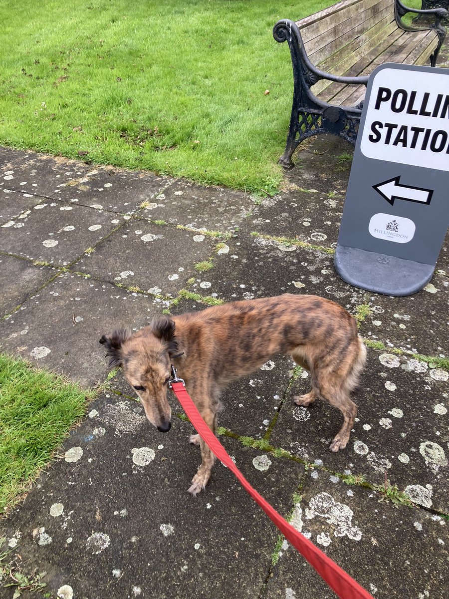
<instances>
[{"instance_id":1,"label":"brindle back and side of the dog, without head or legs","mask_svg":"<svg viewBox=\"0 0 449 599\"><path fill-rule=\"evenodd\" d=\"M315 295L236 301L175 316L181 347L213 376L229 382L280 353L353 362L359 352L356 320L340 305ZM186 361L189 361L188 358ZM187 364L185 364L187 366Z\"/></svg>"}]
</instances>

